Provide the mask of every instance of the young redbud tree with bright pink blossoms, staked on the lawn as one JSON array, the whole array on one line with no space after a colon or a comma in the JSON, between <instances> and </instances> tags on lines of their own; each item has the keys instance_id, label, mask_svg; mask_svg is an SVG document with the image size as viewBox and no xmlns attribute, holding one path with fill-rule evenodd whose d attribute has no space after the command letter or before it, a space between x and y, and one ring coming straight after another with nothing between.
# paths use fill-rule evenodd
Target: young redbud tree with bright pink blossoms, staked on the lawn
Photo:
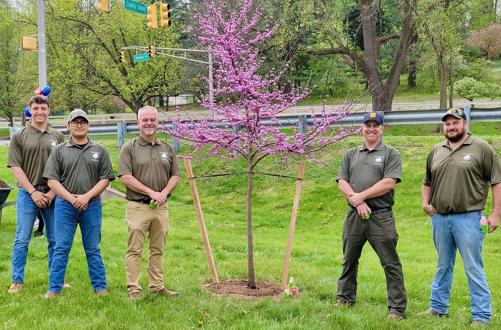
<instances>
[{"instance_id":1,"label":"young redbud tree with bright pink blossoms, staked on the lawn","mask_svg":"<svg viewBox=\"0 0 501 330\"><path fill-rule=\"evenodd\" d=\"M248 288L256 285L252 238L252 190L254 168L266 156L278 156L285 163L291 154L304 155L316 162L315 152L331 143L355 134L358 129L336 127L336 122L350 113L350 104L328 112L313 113L314 122L304 132L299 124L281 123L280 113L296 105L308 94L308 89L284 91L279 79L284 71L268 70L263 73L263 59L258 45L272 36L276 27L266 26L256 32L264 8L253 9L252 0L239 0L236 9L230 9L226 0L218 4L203 0L202 10L195 12L196 29L201 47L210 50L214 58L214 93L228 98L211 103L201 95L200 104L212 110L215 118L195 119L183 117L179 109L176 116L167 114L177 130L163 130L188 145L192 151L187 158L218 155L228 160L236 150L247 159L247 247ZM209 46L211 47L209 49ZM286 64L287 66L287 64ZM206 80L208 82L208 79ZM324 101L325 104L325 101ZM241 127L236 130L234 127ZM292 133L281 131L291 128ZM208 147L207 149L204 149ZM202 152L202 149L204 150ZM205 151L207 150L207 151Z\"/></svg>"}]
</instances>

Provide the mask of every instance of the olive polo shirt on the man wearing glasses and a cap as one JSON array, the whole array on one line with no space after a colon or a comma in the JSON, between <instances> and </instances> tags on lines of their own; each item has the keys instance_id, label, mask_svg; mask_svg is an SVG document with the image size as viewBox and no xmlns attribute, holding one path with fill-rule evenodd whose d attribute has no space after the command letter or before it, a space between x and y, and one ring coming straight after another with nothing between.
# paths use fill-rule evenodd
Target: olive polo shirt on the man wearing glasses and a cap
<instances>
[{"instance_id":1,"label":"olive polo shirt on the man wearing glasses and a cap","mask_svg":"<svg viewBox=\"0 0 501 330\"><path fill-rule=\"evenodd\" d=\"M72 139L52 151L44 178L59 181L67 191L82 195L103 179L115 180L110 156L104 145L91 141L82 149Z\"/></svg>"}]
</instances>

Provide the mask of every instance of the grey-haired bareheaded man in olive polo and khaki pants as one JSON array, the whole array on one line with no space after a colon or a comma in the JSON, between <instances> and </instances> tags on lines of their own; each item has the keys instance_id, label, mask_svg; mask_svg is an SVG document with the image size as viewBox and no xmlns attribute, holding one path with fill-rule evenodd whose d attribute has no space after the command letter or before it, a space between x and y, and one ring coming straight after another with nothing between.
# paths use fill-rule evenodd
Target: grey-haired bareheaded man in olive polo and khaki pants
<instances>
[{"instance_id":1,"label":"grey-haired bareheaded man in olive polo and khaki pants","mask_svg":"<svg viewBox=\"0 0 501 330\"><path fill-rule=\"evenodd\" d=\"M129 200L125 221L129 230L125 253L127 292L131 300L141 299L141 251L148 233L149 292L176 296L163 281L163 249L169 231L167 198L179 183L179 164L174 148L156 138L158 114L145 106L138 111L137 125L141 133L127 141L120 150L118 177L127 186Z\"/></svg>"}]
</instances>

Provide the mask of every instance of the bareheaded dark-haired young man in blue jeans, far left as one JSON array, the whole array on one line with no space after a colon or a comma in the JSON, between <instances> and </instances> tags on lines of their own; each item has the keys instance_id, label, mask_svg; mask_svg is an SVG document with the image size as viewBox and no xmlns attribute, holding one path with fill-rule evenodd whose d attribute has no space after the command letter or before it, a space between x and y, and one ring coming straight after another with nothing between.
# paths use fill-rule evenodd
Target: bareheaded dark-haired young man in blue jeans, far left
<instances>
[{"instance_id":1,"label":"bareheaded dark-haired young man in blue jeans, far left","mask_svg":"<svg viewBox=\"0 0 501 330\"><path fill-rule=\"evenodd\" d=\"M49 267L54 254L54 200L55 193L42 177L45 164L54 147L64 141L63 133L47 123L49 100L42 95L30 99L32 123L14 133L9 146L7 167L18 182L16 202L17 230L12 250L12 284L9 293L23 288L28 244L39 212L45 221Z\"/></svg>"}]
</instances>

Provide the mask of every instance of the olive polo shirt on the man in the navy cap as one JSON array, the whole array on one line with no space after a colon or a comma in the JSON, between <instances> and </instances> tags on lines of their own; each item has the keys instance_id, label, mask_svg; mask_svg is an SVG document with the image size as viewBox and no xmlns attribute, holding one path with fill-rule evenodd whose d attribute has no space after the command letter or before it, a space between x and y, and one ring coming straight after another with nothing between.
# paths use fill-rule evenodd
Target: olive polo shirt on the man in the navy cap
<instances>
[{"instance_id":1,"label":"olive polo shirt on the man in the navy cap","mask_svg":"<svg viewBox=\"0 0 501 330\"><path fill-rule=\"evenodd\" d=\"M336 182L345 180L356 193L363 192L385 178L402 181L402 161L400 153L394 147L382 141L372 150L365 147L365 143L346 151L341 161ZM366 199L371 209L390 207L394 204L392 189L383 196ZM347 204L352 206L350 203Z\"/></svg>"}]
</instances>

